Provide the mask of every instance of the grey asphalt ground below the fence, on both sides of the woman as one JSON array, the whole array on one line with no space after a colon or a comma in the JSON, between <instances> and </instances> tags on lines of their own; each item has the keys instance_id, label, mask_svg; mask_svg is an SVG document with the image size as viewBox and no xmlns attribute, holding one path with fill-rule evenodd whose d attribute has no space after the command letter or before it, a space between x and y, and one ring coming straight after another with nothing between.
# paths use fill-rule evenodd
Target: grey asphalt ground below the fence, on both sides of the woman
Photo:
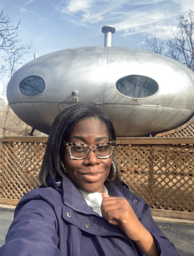
<instances>
[{"instance_id":1,"label":"grey asphalt ground below the fence, on both sides of the woman","mask_svg":"<svg viewBox=\"0 0 194 256\"><path fill-rule=\"evenodd\" d=\"M0 209L0 246L13 219L13 212ZM180 256L194 256L194 226L157 222L164 235L175 244ZM173 256L173 255L172 255Z\"/></svg>"}]
</instances>

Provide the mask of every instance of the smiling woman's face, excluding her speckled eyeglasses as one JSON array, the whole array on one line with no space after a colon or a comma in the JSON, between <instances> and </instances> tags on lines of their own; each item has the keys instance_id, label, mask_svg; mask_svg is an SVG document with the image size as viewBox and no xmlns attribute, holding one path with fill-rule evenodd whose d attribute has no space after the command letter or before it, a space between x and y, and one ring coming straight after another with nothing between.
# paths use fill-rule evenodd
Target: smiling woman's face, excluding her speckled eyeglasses
<instances>
[{"instance_id":1,"label":"smiling woman's face, excluding her speckled eyeglasses","mask_svg":"<svg viewBox=\"0 0 194 256\"><path fill-rule=\"evenodd\" d=\"M87 118L79 121L70 134L68 142L84 143L89 146L109 142L107 127L97 118ZM99 159L92 150L89 150L85 159L71 159L65 149L65 169L72 182L83 191L94 193L102 192L103 184L107 179L112 156Z\"/></svg>"}]
</instances>

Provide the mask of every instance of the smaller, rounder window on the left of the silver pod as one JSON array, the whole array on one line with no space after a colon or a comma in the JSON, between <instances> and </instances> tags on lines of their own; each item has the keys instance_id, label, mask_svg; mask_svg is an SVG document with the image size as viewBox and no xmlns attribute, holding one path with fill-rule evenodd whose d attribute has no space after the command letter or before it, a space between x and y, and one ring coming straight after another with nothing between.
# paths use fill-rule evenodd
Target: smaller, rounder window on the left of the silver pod
<instances>
[{"instance_id":1,"label":"smaller, rounder window on the left of the silver pod","mask_svg":"<svg viewBox=\"0 0 194 256\"><path fill-rule=\"evenodd\" d=\"M28 76L19 83L19 91L27 97L41 94L44 88L45 81L40 76Z\"/></svg>"}]
</instances>

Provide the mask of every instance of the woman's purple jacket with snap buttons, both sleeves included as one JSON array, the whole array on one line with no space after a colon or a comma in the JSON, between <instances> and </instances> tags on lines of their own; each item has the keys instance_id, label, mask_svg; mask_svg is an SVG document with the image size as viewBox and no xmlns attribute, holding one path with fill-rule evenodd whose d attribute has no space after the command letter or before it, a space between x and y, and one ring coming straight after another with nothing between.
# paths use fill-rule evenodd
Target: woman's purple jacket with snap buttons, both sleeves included
<instances>
[{"instance_id":1,"label":"woman's purple jacket with snap buttons, both sleeves included","mask_svg":"<svg viewBox=\"0 0 194 256\"><path fill-rule=\"evenodd\" d=\"M178 256L140 197L122 184L107 186L110 196L129 201L153 235L161 256ZM19 201L0 256L137 256L143 255L117 226L94 213L69 180L26 193Z\"/></svg>"}]
</instances>

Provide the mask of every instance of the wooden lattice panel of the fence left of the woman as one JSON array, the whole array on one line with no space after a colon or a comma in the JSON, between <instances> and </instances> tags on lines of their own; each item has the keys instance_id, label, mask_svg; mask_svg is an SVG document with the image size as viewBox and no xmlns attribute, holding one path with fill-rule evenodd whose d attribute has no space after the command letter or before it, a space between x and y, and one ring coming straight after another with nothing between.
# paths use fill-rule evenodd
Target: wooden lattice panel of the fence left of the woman
<instances>
[{"instance_id":1,"label":"wooden lattice panel of the fence left of the woman","mask_svg":"<svg viewBox=\"0 0 194 256\"><path fill-rule=\"evenodd\" d=\"M40 185L38 173L44 151L45 143L42 142L2 143L0 197L20 199Z\"/></svg>"}]
</instances>

